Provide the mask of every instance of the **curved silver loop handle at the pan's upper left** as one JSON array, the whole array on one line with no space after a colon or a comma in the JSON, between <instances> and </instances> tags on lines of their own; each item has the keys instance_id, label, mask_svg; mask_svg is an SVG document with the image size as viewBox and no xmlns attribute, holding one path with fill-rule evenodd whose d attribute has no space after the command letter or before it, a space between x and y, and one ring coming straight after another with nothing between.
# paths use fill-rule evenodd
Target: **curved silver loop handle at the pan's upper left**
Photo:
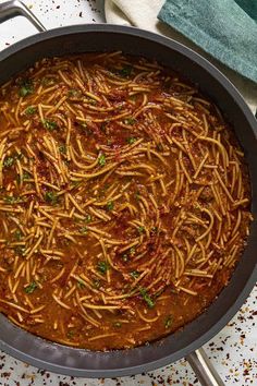
<instances>
[{"instance_id":1,"label":"curved silver loop handle at the pan's upper left","mask_svg":"<svg viewBox=\"0 0 257 386\"><path fill-rule=\"evenodd\" d=\"M39 32L46 31L39 20L23 2L11 0L0 3L0 23L20 15L25 16Z\"/></svg>"}]
</instances>

